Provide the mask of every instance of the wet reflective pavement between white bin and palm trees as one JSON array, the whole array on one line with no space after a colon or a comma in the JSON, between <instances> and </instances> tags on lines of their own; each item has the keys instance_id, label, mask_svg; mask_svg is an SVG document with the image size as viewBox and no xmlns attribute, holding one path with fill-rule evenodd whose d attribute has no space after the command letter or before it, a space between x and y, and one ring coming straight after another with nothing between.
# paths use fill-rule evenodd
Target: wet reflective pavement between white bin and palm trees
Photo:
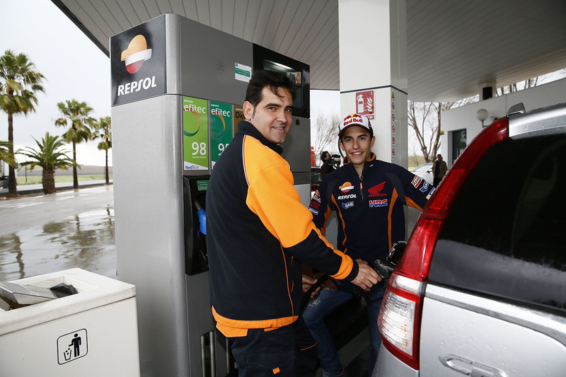
<instances>
[{"instance_id":1,"label":"wet reflective pavement between white bin and palm trees","mask_svg":"<svg viewBox=\"0 0 566 377\"><path fill-rule=\"evenodd\" d=\"M112 185L0 201L0 282L74 267L116 278Z\"/></svg>"}]
</instances>

